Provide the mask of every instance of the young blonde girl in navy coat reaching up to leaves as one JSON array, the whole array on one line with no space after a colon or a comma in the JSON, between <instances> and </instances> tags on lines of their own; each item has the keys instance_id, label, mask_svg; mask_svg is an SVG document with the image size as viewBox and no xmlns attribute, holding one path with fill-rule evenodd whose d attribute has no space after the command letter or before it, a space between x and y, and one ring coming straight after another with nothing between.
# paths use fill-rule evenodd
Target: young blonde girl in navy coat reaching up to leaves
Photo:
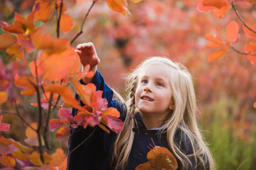
<instances>
[{"instance_id":1,"label":"young blonde girl in navy coat reaching up to leaves","mask_svg":"<svg viewBox=\"0 0 256 170\"><path fill-rule=\"evenodd\" d=\"M103 91L108 107L121 113L124 126L119 134L108 134L98 127L79 127L72 149L93 135L71 154L70 170L135 170L148 161L147 146L153 145L152 140L156 146L169 149L177 159L178 170L215 169L197 126L192 77L183 65L166 57L145 59L127 77L129 94L125 103L97 71L100 60L93 43L79 44L75 51L82 65L90 64L95 73L92 79L82 79L81 84L92 82ZM113 99L113 93L121 102ZM76 99L80 101L77 94ZM75 116L76 110L72 112Z\"/></svg>"}]
</instances>

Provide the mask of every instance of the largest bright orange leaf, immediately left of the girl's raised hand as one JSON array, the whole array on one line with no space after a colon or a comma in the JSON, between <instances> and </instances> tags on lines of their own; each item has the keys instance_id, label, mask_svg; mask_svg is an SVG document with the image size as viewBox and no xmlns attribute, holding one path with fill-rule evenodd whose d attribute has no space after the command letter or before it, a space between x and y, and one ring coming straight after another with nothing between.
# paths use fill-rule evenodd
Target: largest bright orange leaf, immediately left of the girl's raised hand
<instances>
[{"instance_id":1,"label":"largest bright orange leaf, immediately left of the girl's raised hand","mask_svg":"<svg viewBox=\"0 0 256 170\"><path fill-rule=\"evenodd\" d=\"M61 80L72 72L79 71L80 58L73 48L68 48L62 53L47 55L42 51L40 55L40 67L44 74L43 79ZM54 73L54 74L52 74Z\"/></svg>"}]
</instances>

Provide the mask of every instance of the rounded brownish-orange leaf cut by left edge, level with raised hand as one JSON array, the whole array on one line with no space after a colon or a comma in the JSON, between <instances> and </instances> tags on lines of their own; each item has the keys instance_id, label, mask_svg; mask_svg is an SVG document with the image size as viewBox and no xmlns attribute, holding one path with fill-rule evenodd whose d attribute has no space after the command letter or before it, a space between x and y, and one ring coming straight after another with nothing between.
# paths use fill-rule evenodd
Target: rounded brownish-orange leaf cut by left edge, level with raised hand
<instances>
[{"instance_id":1,"label":"rounded brownish-orange leaf cut by left edge, level with raised hand","mask_svg":"<svg viewBox=\"0 0 256 170\"><path fill-rule=\"evenodd\" d=\"M10 33L3 33L0 35L0 50L5 51L15 42L17 42L17 38Z\"/></svg>"}]
</instances>

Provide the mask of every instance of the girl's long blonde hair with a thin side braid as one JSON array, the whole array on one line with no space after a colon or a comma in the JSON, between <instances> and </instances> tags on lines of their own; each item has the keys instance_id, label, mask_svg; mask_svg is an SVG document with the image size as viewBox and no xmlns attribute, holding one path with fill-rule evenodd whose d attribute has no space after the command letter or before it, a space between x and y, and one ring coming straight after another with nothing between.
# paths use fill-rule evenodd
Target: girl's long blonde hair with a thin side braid
<instances>
[{"instance_id":1,"label":"girl's long blonde hair with a thin side braid","mask_svg":"<svg viewBox=\"0 0 256 170\"><path fill-rule=\"evenodd\" d=\"M204 162L204 158L207 156L210 170L214 170L215 162L206 142L202 138L201 130L199 130L197 125L196 97L192 76L185 66L173 62L166 57L148 57L126 77L126 91L129 93L126 99L127 115L123 129L117 134L113 144L112 163L113 161L116 163L115 170L125 170L128 156L131 152L135 133L132 128L135 127L137 123L135 117L134 119L130 119L130 115L135 115L135 113L139 111L135 105L135 91L140 74L147 65L156 62L166 64L170 68L167 71L168 79L169 83L172 82L170 83L170 87L175 101L175 109L171 115L169 114L169 119L164 121L167 130L162 130L161 134L166 133L168 144L174 155L181 161L183 170L192 166L192 162L189 159L192 156L194 157L192 159L195 159L196 164L203 164L205 169L207 167L205 167L206 162ZM119 94L115 91L114 93L119 99L124 101ZM189 139L192 145L193 154L185 155L182 150L179 149L179 144L175 142L175 132L177 130L181 131L180 141L186 142L187 139ZM198 163L197 160L200 162Z\"/></svg>"}]
</instances>

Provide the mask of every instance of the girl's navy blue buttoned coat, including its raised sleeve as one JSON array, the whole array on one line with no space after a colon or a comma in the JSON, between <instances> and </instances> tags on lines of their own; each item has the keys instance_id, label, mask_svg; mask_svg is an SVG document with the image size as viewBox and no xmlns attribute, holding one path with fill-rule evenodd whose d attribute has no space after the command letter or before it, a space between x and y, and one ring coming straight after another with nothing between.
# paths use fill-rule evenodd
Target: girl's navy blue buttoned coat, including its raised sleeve
<instances>
[{"instance_id":1,"label":"girl's navy blue buttoned coat, including its raised sleeve","mask_svg":"<svg viewBox=\"0 0 256 170\"><path fill-rule=\"evenodd\" d=\"M120 112L120 119L122 121L125 120L126 113L124 109L122 109L123 105L121 102L113 99L113 91L108 85L105 84L105 81L99 71L96 71L96 74L93 77L92 83L96 85L96 90L103 91L102 98L106 98L108 100L108 107L117 108ZM81 84L84 84L81 81ZM76 94L76 99L81 102L81 99ZM81 105L84 105L81 102ZM73 116L76 115L76 109L72 110ZM133 131L135 132L134 142L132 145L131 153L128 158L128 167L127 170L135 170L135 168L148 161L147 153L149 151L149 144L153 145L151 138L154 141L156 146L163 146L168 148L171 152L171 148L167 144L166 134L160 137L159 130L147 130L144 123L141 120L140 114L136 114L137 125L138 127L134 127ZM96 127L87 127L84 129L83 127L78 127L78 132L74 133L72 140L72 150L78 146L84 139L89 136L94 128L96 131L92 136L84 142L78 149L76 149L70 156L70 170L112 170L113 168L109 167L111 161L111 153L113 148L113 142L116 133L110 130L110 134L106 133L104 130ZM78 129L76 129L78 130ZM189 145L189 142L181 142L180 143L180 133L177 132L175 134L175 141L180 144L180 149L184 151L184 153L191 154L192 147ZM186 145L185 145L186 143ZM176 158L177 159L177 158ZM178 170L182 169L182 165L180 161L178 162ZM193 169L192 167L189 169ZM198 167L197 170L202 169Z\"/></svg>"}]
</instances>

